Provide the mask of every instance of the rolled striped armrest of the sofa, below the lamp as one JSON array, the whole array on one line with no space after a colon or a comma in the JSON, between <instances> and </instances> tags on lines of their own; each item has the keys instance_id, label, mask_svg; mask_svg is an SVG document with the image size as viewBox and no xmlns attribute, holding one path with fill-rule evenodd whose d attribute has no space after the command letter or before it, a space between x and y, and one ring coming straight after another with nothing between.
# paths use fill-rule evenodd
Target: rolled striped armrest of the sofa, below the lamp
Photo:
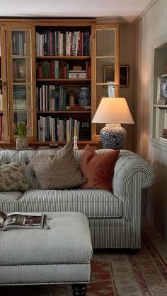
<instances>
[{"instance_id":1,"label":"rolled striped armrest of the sofa, below the lamp","mask_svg":"<svg viewBox=\"0 0 167 296\"><path fill-rule=\"evenodd\" d=\"M113 194L119 199L140 194L141 189L151 186L154 170L146 160L129 150L121 150L115 164L113 176Z\"/></svg>"}]
</instances>

